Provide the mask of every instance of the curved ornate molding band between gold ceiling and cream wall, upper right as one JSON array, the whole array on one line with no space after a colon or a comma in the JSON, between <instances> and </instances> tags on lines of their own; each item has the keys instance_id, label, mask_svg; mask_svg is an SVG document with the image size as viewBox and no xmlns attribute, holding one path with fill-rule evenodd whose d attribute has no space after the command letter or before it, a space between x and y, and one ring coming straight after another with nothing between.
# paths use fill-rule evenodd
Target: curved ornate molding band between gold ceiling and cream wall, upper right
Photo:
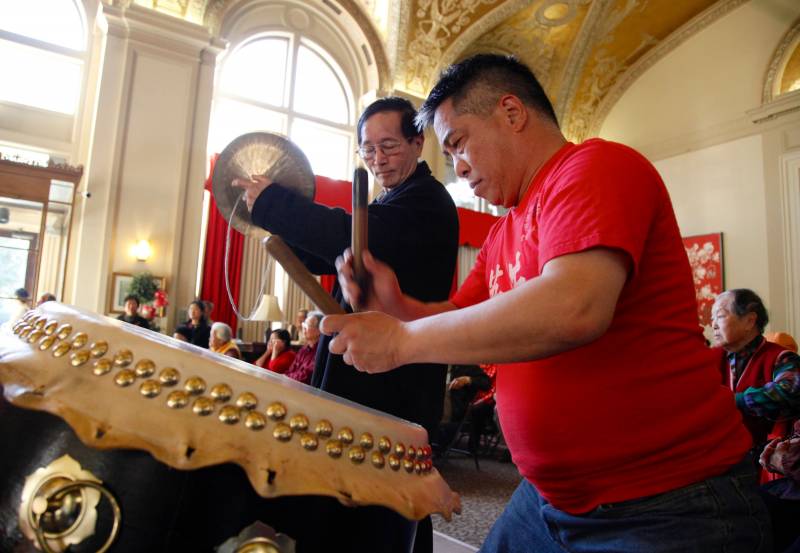
<instances>
[{"instance_id":1,"label":"curved ornate molding band between gold ceiling and cream wall, upper right","mask_svg":"<svg viewBox=\"0 0 800 553\"><path fill-rule=\"evenodd\" d=\"M667 38L660 41L655 47L648 50L643 56L631 64L630 67L625 69L594 109L591 120L586 127L586 136L594 136L600 132L603 121L605 121L605 118L625 91L658 60L666 56L687 39L745 2L747 2L747 0L724 0L722 2L717 2L693 17L676 31L670 33ZM798 32L800 33L800 28Z\"/></svg>"}]
</instances>

